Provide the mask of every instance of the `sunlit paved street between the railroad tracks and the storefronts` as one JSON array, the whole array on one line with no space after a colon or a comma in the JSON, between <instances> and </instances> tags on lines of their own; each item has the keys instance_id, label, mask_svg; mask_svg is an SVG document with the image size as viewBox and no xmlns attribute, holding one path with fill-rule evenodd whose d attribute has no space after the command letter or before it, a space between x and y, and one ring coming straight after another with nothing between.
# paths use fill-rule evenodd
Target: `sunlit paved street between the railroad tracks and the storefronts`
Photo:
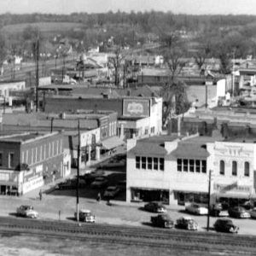
<instances>
[{"instance_id":1,"label":"sunlit paved street between the railroad tracks and the storefronts","mask_svg":"<svg viewBox=\"0 0 256 256\"><path fill-rule=\"evenodd\" d=\"M88 190L88 189L87 189ZM23 197L1 196L0 197L0 215L1 216L15 216L15 209L21 204L32 205L38 212L40 218L43 219L56 219L61 217L61 220L74 221L73 213L76 209L76 197L75 190L56 191L50 195L43 195L43 200L39 200L37 191L33 191L30 195ZM88 192L88 191L87 191ZM125 201L112 201L113 206L109 207L106 201L98 203L94 198L86 198L86 189L81 189L79 199L79 207L90 209L96 214L97 223L105 224L125 224L125 225L137 225L148 226L150 216L154 213L143 211L144 203L129 203ZM184 207L168 206L168 212L173 219L177 219L180 216L188 215L183 212ZM61 211L61 216L59 216ZM207 226L206 216L194 216L195 220L200 226L200 230L205 230ZM211 218L211 226L216 218ZM253 219L234 219L234 223L240 227L240 234L256 235L256 220Z\"/></svg>"}]
</instances>

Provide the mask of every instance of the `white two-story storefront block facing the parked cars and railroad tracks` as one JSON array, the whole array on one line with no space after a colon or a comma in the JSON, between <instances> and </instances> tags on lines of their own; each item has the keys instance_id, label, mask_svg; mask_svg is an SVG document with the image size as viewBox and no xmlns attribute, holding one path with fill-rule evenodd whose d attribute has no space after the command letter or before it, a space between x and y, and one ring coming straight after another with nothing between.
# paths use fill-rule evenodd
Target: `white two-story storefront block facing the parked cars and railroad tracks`
<instances>
[{"instance_id":1,"label":"white two-story storefront block facing the parked cars and railroad tracks","mask_svg":"<svg viewBox=\"0 0 256 256\"><path fill-rule=\"evenodd\" d=\"M207 203L255 197L256 144L176 135L127 142L126 201Z\"/></svg>"}]
</instances>

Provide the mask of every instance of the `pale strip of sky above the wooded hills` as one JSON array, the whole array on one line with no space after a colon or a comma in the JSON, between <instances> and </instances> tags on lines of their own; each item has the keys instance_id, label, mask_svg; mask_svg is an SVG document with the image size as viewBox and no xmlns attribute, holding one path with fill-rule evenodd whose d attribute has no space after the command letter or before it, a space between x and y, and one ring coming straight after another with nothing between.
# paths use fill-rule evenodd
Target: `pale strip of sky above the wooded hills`
<instances>
[{"instance_id":1,"label":"pale strip of sky above the wooded hills","mask_svg":"<svg viewBox=\"0 0 256 256\"><path fill-rule=\"evenodd\" d=\"M1 14L158 10L192 15L256 15L256 0L0 0L0 6Z\"/></svg>"}]
</instances>

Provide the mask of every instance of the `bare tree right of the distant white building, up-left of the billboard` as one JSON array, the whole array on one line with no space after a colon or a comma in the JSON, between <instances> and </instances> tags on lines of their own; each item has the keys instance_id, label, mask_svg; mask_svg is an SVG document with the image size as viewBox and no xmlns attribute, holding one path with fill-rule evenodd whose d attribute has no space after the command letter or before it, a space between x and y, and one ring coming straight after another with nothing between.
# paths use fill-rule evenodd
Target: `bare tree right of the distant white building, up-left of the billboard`
<instances>
[{"instance_id":1,"label":"bare tree right of the distant white building, up-left of the billboard","mask_svg":"<svg viewBox=\"0 0 256 256\"><path fill-rule=\"evenodd\" d=\"M121 53L120 46L116 46L113 50L113 55L109 57L108 61L110 66L113 67L114 72L114 84L119 87L120 85L120 76L122 73L122 64L125 56Z\"/></svg>"}]
</instances>

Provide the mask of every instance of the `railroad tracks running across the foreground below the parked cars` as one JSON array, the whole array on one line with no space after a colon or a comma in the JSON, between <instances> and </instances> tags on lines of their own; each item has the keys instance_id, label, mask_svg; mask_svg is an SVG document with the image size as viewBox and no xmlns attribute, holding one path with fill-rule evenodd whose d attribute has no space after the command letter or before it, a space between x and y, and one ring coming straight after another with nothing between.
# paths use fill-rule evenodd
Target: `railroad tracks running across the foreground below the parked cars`
<instances>
[{"instance_id":1,"label":"railroad tracks running across the foreground below the parked cars","mask_svg":"<svg viewBox=\"0 0 256 256\"><path fill-rule=\"evenodd\" d=\"M225 255L255 255L256 237L217 233L123 227L108 224L68 223L26 218L0 218L0 234L33 234L77 240L122 243L133 246L180 248Z\"/></svg>"}]
</instances>

